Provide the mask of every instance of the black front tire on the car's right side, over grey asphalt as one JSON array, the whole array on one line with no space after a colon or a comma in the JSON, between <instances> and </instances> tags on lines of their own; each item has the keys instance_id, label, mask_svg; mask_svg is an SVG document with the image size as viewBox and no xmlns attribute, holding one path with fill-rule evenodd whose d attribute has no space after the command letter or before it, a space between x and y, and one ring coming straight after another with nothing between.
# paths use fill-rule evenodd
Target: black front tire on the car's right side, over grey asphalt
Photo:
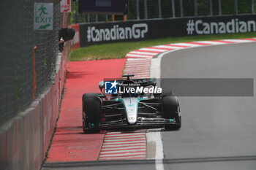
<instances>
[{"instance_id":1,"label":"black front tire on the car's right side, over grey asphalt","mask_svg":"<svg viewBox=\"0 0 256 170\"><path fill-rule=\"evenodd\" d=\"M176 96L168 94L162 97L162 116L166 119L175 119L178 122L176 125L165 125L166 130L178 130L181 128L179 112L180 108Z\"/></svg>"}]
</instances>

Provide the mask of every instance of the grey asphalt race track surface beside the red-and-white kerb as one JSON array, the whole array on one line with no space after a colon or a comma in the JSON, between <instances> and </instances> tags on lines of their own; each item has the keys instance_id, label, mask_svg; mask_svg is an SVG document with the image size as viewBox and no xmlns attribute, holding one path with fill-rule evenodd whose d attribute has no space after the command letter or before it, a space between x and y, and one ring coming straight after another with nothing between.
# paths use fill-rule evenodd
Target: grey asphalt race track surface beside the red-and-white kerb
<instances>
[{"instance_id":1,"label":"grey asphalt race track surface beside the red-and-white kerb","mask_svg":"<svg viewBox=\"0 0 256 170\"><path fill-rule=\"evenodd\" d=\"M195 47L162 57L162 78L256 78L256 43ZM162 88L169 88L167 82ZM255 85L254 85L255 88ZM162 131L163 168L256 169L254 96L182 96L182 127ZM163 170L158 166L157 170ZM46 163L53 169L156 169L155 161Z\"/></svg>"}]
</instances>

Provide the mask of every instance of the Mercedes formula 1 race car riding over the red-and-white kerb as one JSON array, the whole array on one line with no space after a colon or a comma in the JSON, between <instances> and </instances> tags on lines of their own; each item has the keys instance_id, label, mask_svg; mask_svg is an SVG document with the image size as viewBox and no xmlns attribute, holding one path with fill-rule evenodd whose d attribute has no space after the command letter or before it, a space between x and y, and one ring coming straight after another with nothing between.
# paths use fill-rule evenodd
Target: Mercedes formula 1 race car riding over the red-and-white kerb
<instances>
[{"instance_id":1,"label":"Mercedes formula 1 race car riding over the red-and-white kerb","mask_svg":"<svg viewBox=\"0 0 256 170\"><path fill-rule=\"evenodd\" d=\"M114 128L181 128L178 98L150 79L99 82L100 93L83 94L83 131Z\"/></svg>"}]
</instances>

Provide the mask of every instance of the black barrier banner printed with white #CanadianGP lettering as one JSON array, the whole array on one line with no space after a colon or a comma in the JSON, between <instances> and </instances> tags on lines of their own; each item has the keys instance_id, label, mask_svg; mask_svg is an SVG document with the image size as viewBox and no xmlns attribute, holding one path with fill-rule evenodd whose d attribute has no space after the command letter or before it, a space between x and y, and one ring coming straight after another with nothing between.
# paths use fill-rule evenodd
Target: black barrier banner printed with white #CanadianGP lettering
<instances>
[{"instance_id":1,"label":"black barrier banner printed with white #CanadianGP lettering","mask_svg":"<svg viewBox=\"0 0 256 170\"><path fill-rule=\"evenodd\" d=\"M80 24L80 46L136 42L170 36L256 31L256 15L233 15Z\"/></svg>"}]
</instances>

